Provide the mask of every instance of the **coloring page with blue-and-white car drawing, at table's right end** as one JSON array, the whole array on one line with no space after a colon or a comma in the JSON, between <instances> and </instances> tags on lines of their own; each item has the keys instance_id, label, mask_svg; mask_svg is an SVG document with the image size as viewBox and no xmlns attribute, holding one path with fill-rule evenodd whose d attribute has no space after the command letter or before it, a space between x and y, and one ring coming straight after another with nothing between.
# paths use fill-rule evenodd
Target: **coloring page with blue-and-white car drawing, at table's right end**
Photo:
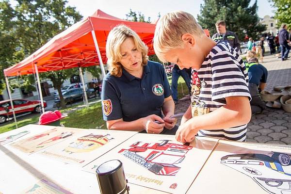
<instances>
[{"instance_id":1,"label":"coloring page with blue-and-white car drawing, at table's right end","mask_svg":"<svg viewBox=\"0 0 291 194\"><path fill-rule=\"evenodd\" d=\"M240 145L220 140L188 193L211 193L209 188L213 192L223 189L225 193L236 194L291 192L291 147ZM243 190L238 190L239 187Z\"/></svg>"}]
</instances>

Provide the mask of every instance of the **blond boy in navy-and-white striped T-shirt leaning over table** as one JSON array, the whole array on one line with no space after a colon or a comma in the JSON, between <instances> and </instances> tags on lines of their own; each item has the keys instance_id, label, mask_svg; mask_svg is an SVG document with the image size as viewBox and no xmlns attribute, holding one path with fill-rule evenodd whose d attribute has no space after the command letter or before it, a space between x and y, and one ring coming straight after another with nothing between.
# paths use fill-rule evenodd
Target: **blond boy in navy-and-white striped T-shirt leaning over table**
<instances>
[{"instance_id":1,"label":"blond boy in navy-and-white striped T-shirt leaning over table","mask_svg":"<svg viewBox=\"0 0 291 194\"><path fill-rule=\"evenodd\" d=\"M194 136L245 141L251 118L248 76L236 50L211 40L194 16L176 11L156 26L154 49L162 62L192 67L191 104L176 133L180 142Z\"/></svg>"}]
</instances>

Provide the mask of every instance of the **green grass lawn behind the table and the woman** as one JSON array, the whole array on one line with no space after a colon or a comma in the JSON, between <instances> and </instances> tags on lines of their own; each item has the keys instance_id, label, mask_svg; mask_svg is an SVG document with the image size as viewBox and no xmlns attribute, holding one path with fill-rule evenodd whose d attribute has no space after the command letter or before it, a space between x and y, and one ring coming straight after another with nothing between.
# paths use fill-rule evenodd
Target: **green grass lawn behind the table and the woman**
<instances>
[{"instance_id":1,"label":"green grass lawn behind the table and the woman","mask_svg":"<svg viewBox=\"0 0 291 194\"><path fill-rule=\"evenodd\" d=\"M171 85L172 77L169 77L169 82ZM184 95L188 95L189 91L186 86L185 81L182 77L178 80L178 98L183 97ZM72 107L68 107L64 110L60 110L62 113L64 111L68 111L70 109L76 108L78 105L74 105ZM18 127L22 127L29 124L35 124L38 122L39 115L35 115L28 119L23 119L17 122ZM10 121L10 124L7 124L0 128L0 133L15 129L16 126L13 121ZM82 128L82 129L107 129L106 122L103 120L101 102L90 105L89 107L81 108L79 110L68 113L68 116L61 120L61 123L65 125L65 127L71 128Z\"/></svg>"}]
</instances>

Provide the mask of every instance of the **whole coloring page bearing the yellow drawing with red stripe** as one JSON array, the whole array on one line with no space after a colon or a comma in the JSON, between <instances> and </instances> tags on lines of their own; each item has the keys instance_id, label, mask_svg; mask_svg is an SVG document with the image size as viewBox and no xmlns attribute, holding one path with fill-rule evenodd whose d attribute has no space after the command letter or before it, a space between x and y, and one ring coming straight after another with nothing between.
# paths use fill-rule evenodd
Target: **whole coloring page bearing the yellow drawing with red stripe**
<instances>
[{"instance_id":1,"label":"whole coloring page bearing the yellow drawing with red stripe","mask_svg":"<svg viewBox=\"0 0 291 194\"><path fill-rule=\"evenodd\" d=\"M40 151L38 154L62 162L85 166L136 133L136 131L88 129L74 138Z\"/></svg>"}]
</instances>

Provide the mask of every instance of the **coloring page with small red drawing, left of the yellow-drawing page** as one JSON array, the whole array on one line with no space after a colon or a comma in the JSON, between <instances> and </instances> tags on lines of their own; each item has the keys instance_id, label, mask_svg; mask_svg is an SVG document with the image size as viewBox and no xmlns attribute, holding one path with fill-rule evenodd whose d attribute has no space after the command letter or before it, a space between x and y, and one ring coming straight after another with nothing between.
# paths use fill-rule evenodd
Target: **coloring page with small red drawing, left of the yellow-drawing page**
<instances>
[{"instance_id":1,"label":"coloring page with small red drawing, left of the yellow-drawing page","mask_svg":"<svg viewBox=\"0 0 291 194\"><path fill-rule=\"evenodd\" d=\"M56 127L54 129L50 129L32 137L15 142L10 146L13 146L25 153L32 154L34 152L62 142L65 139L71 138L81 131L81 129Z\"/></svg>"}]
</instances>

